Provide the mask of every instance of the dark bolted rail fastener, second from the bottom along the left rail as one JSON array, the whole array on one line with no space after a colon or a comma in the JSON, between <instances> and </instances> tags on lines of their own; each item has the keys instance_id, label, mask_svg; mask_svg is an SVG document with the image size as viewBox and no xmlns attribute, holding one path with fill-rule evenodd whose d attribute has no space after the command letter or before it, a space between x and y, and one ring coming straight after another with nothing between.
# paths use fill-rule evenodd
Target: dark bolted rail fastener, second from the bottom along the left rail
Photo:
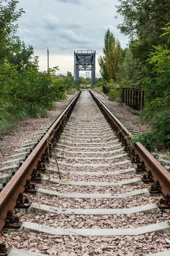
<instances>
[{"instance_id":1,"label":"dark bolted rail fastener, second from the bottom along the left rail","mask_svg":"<svg viewBox=\"0 0 170 256\"><path fill-rule=\"evenodd\" d=\"M23 221L19 220L19 217L13 216L13 213L11 210L8 210L5 220L5 225L3 228L8 229L19 229L22 225Z\"/></svg>"}]
</instances>

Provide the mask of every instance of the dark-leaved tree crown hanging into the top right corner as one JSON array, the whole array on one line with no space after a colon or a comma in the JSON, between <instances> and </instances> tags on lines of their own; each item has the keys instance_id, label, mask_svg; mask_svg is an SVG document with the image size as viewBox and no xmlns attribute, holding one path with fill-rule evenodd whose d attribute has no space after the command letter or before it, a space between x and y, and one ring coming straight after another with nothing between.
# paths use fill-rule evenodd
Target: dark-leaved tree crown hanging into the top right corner
<instances>
[{"instance_id":1,"label":"dark-leaved tree crown hanging into the top right corner","mask_svg":"<svg viewBox=\"0 0 170 256\"><path fill-rule=\"evenodd\" d=\"M170 20L169 0L119 0L117 13L124 17L120 32L131 39L130 48L136 58L147 59L152 45L164 45L161 28ZM138 56L137 56L138 55Z\"/></svg>"}]
</instances>

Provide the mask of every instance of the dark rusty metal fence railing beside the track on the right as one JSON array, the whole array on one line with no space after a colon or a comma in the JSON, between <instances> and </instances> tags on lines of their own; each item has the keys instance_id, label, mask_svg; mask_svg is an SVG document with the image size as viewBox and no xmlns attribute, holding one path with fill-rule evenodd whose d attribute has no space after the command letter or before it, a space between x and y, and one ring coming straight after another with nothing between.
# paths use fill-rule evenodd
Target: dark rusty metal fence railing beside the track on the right
<instances>
[{"instance_id":1,"label":"dark rusty metal fence railing beside the track on the right","mask_svg":"<svg viewBox=\"0 0 170 256\"><path fill-rule=\"evenodd\" d=\"M144 108L144 90L138 88L122 88L122 102L130 108L140 111Z\"/></svg>"}]
</instances>

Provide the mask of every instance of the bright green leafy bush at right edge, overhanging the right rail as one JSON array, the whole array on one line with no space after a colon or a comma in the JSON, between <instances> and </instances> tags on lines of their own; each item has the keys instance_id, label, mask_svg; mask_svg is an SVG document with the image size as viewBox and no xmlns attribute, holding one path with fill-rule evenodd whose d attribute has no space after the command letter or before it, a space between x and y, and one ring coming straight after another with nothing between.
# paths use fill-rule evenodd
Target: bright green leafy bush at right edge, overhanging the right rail
<instances>
[{"instance_id":1,"label":"bright green leafy bush at right edge, overhanging the right rail","mask_svg":"<svg viewBox=\"0 0 170 256\"><path fill-rule=\"evenodd\" d=\"M168 25L168 24L167 24ZM170 41L169 29L166 28L163 35L168 35L167 43ZM152 73L145 72L141 77L147 104L142 113L142 119L146 120L153 128L153 132L140 136L140 142L150 150L160 148L164 144L170 147L170 49L167 45L153 47L148 62L153 64ZM146 76L147 73L147 76ZM133 136L133 140L138 139Z\"/></svg>"}]
</instances>

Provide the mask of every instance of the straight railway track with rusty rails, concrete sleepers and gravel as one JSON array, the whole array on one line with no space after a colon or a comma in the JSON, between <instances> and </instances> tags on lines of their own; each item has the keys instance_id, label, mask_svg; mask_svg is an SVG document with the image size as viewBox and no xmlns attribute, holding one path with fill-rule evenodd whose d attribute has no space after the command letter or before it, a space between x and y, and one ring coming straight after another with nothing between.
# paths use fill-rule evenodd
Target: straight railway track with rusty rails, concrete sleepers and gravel
<instances>
[{"instance_id":1,"label":"straight railway track with rusty rails, concrete sleepers and gravel","mask_svg":"<svg viewBox=\"0 0 170 256\"><path fill-rule=\"evenodd\" d=\"M55 119L0 169L0 255L170 255L169 172L91 90Z\"/></svg>"}]
</instances>

